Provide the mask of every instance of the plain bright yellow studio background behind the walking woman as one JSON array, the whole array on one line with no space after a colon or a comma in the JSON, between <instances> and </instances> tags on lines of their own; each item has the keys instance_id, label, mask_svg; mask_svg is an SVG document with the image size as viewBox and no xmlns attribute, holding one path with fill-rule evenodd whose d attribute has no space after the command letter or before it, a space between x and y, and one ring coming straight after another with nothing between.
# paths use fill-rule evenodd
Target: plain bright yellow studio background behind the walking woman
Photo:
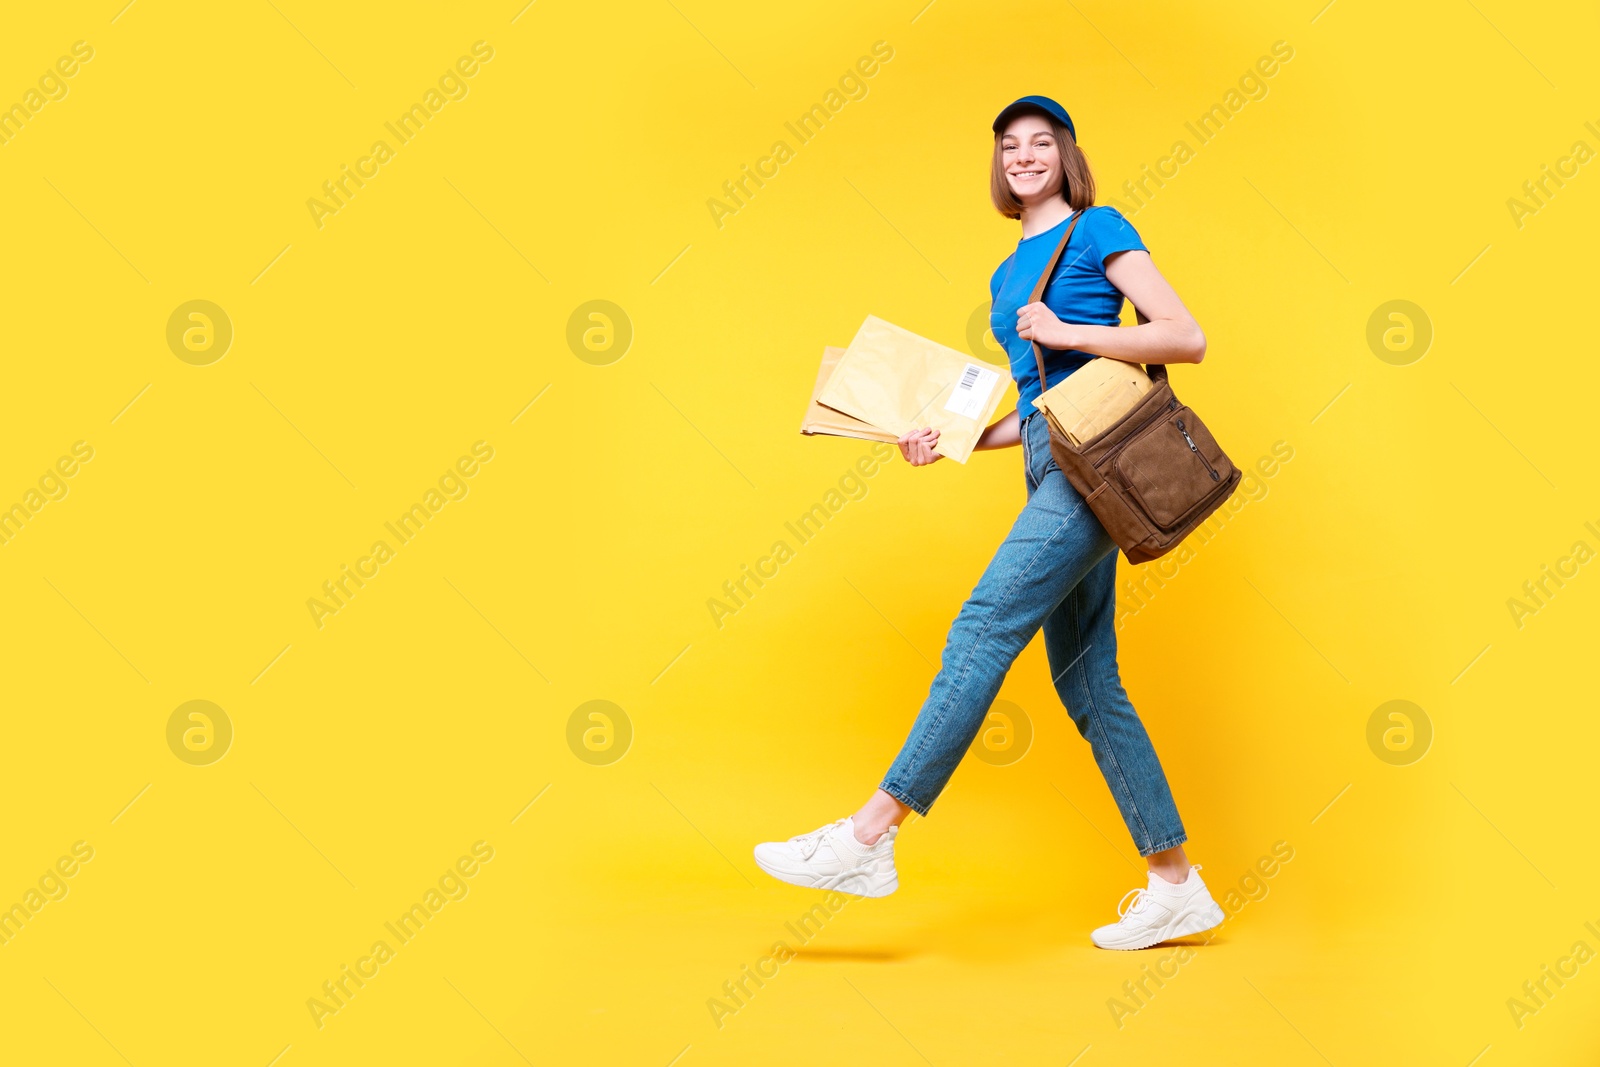
<instances>
[{"instance_id":1,"label":"plain bright yellow studio background behind the walking woman","mask_svg":"<svg viewBox=\"0 0 1600 1067\"><path fill-rule=\"evenodd\" d=\"M1506 1005L1600 949L1600 568L1506 605L1600 547L1600 174L1507 208L1600 147L1590 5L120 3L0 35L3 102L94 50L0 147L0 502L94 450L0 547L0 902L94 849L0 947L8 1062L1592 1062L1600 965ZM478 40L469 94L318 229L307 198ZM1294 859L1118 1027L1170 950L1088 944L1142 875L1035 643L1002 693L1026 757L968 760L902 889L715 1025L819 899L750 846L875 785L1022 502L1016 451L896 459L714 625L869 448L795 432L822 346L867 314L966 346L1018 238L1005 102L1062 99L1122 198L1278 40L1133 221L1210 338L1179 394L1242 464L1294 458L1122 662L1218 894ZM234 325L208 366L165 339L192 299ZM566 342L592 299L634 326L603 366ZM1366 344L1392 299L1434 326L1408 366ZM314 625L478 440L469 496ZM234 725L210 766L166 744L192 699ZM606 766L566 744L594 699L634 729ZM1434 726L1410 766L1366 744L1390 699ZM318 1029L307 998L480 840L469 896Z\"/></svg>"}]
</instances>

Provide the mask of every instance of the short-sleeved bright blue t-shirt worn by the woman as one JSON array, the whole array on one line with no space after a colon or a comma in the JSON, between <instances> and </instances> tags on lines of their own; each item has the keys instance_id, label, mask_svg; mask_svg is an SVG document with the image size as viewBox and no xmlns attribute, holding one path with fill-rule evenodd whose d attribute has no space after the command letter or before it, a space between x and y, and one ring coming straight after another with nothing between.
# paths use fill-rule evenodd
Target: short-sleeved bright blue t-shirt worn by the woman
<instances>
[{"instance_id":1,"label":"short-sleeved bright blue t-shirt worn by the woman","mask_svg":"<svg viewBox=\"0 0 1600 1067\"><path fill-rule=\"evenodd\" d=\"M1034 400L1043 392L1038 386L1038 365L1034 360L1034 342L1016 334L1016 312L1034 294L1034 285L1045 270L1050 253L1056 251L1062 227L1070 226L1067 216L1043 234L1024 237L1016 251L995 267L989 278L989 330L1006 350L1011 362L1011 378L1016 379L1016 411L1021 418L1034 414ZM1085 326L1115 326L1122 322L1123 296L1106 278L1106 258L1120 251L1146 251L1144 242L1133 224L1112 206L1094 206L1083 213L1072 242L1062 250L1056 274L1045 286L1040 299L1056 312L1061 322ZM1072 371L1094 357L1090 352L1045 349L1045 374L1048 386L1058 384ZM1046 389L1048 389L1046 386Z\"/></svg>"}]
</instances>

